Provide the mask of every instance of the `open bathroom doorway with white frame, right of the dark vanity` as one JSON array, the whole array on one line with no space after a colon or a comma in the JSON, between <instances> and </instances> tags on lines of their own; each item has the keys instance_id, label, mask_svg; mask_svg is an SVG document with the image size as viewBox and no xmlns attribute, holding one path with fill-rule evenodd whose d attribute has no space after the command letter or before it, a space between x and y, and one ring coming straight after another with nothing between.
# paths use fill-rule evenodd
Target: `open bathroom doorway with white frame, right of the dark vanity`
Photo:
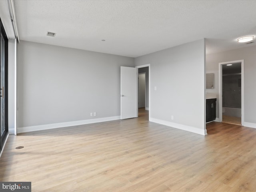
<instances>
[{"instance_id":1,"label":"open bathroom doorway with white frame, right of the dark vanity","mask_svg":"<svg viewBox=\"0 0 256 192\"><path fill-rule=\"evenodd\" d=\"M243 60L220 63L220 121L243 124Z\"/></svg>"}]
</instances>

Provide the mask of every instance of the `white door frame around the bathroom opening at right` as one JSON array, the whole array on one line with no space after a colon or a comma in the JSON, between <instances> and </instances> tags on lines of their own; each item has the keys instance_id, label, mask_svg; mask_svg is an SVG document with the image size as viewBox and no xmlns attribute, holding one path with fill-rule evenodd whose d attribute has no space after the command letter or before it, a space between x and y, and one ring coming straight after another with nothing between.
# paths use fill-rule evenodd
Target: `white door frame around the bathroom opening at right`
<instances>
[{"instance_id":1,"label":"white door frame around the bathroom opening at right","mask_svg":"<svg viewBox=\"0 0 256 192\"><path fill-rule=\"evenodd\" d=\"M222 122L222 65L241 62L241 124L244 125L244 60L219 63L219 121Z\"/></svg>"}]
</instances>

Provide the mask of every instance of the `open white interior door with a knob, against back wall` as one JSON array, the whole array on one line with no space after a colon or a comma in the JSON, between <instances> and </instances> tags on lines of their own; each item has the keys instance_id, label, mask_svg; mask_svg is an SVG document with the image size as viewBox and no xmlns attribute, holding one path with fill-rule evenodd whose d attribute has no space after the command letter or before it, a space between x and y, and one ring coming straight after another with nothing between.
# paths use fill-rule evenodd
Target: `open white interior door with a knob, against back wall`
<instances>
[{"instance_id":1,"label":"open white interior door with a knob, against back wall","mask_svg":"<svg viewBox=\"0 0 256 192\"><path fill-rule=\"evenodd\" d=\"M121 119L138 117L137 70L121 66Z\"/></svg>"}]
</instances>

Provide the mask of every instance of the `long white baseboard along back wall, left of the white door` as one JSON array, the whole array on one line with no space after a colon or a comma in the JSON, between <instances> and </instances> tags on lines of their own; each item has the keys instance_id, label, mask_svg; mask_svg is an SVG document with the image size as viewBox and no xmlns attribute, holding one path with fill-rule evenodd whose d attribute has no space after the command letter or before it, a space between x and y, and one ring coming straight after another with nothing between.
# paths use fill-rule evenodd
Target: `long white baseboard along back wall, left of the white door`
<instances>
[{"instance_id":1,"label":"long white baseboard along back wall, left of the white door","mask_svg":"<svg viewBox=\"0 0 256 192\"><path fill-rule=\"evenodd\" d=\"M17 132L18 133L24 133L24 132L31 132L31 131L61 128L61 127L69 127L69 126L76 126L76 125L99 123L99 122L119 120L119 119L120 119L120 116L113 116L113 117L105 117L105 118L98 118L98 119L88 119L88 120L62 122L62 123L54 123L54 124L46 124L46 125L19 127Z\"/></svg>"}]
</instances>

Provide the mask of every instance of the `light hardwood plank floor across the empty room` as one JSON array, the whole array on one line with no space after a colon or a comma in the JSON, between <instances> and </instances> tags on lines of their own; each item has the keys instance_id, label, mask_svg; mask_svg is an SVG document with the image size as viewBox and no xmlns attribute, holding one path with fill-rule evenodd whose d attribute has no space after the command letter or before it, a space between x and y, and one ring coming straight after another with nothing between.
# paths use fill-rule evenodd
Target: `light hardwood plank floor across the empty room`
<instances>
[{"instance_id":1,"label":"light hardwood plank floor across the empty room","mask_svg":"<svg viewBox=\"0 0 256 192\"><path fill-rule=\"evenodd\" d=\"M145 114L10 135L0 180L32 192L256 191L256 129L212 122L202 136Z\"/></svg>"}]
</instances>

